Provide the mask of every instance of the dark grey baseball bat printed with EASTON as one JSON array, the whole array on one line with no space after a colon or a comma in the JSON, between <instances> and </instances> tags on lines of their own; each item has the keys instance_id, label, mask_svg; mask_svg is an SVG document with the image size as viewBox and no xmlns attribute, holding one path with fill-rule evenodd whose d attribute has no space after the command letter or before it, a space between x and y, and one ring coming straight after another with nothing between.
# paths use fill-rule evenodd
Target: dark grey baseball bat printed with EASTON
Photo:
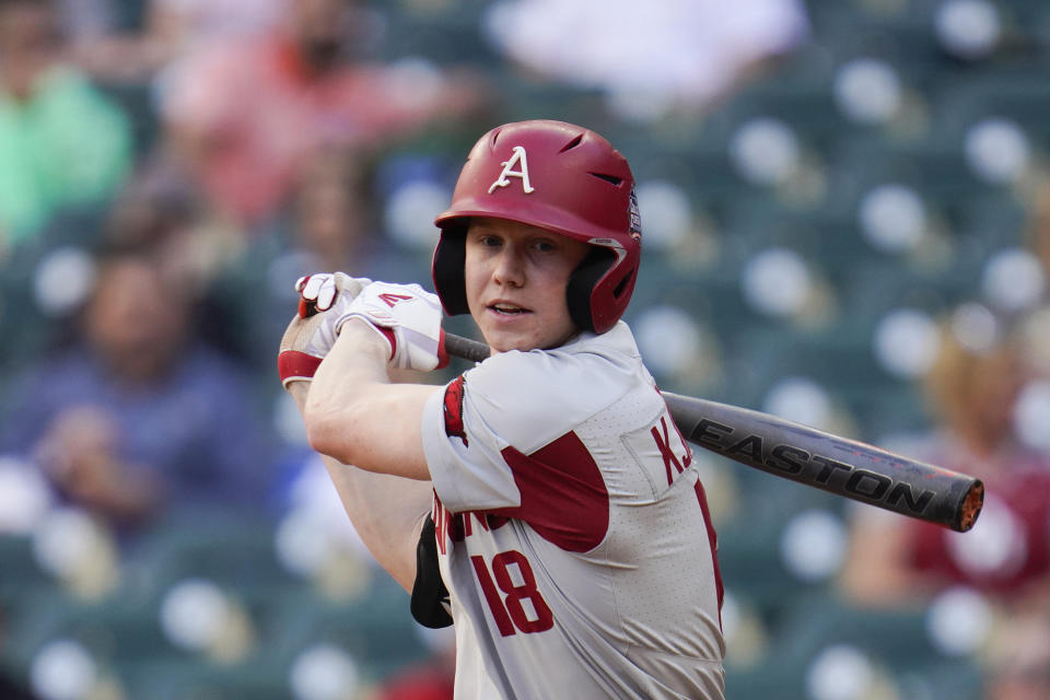
<instances>
[{"instance_id":1,"label":"dark grey baseball bat printed with EASTON","mask_svg":"<svg viewBox=\"0 0 1050 700\"><path fill-rule=\"evenodd\" d=\"M450 355L480 362L489 347L445 334ZM965 533L984 503L980 479L770 413L662 392L682 436L748 467Z\"/></svg>"}]
</instances>

